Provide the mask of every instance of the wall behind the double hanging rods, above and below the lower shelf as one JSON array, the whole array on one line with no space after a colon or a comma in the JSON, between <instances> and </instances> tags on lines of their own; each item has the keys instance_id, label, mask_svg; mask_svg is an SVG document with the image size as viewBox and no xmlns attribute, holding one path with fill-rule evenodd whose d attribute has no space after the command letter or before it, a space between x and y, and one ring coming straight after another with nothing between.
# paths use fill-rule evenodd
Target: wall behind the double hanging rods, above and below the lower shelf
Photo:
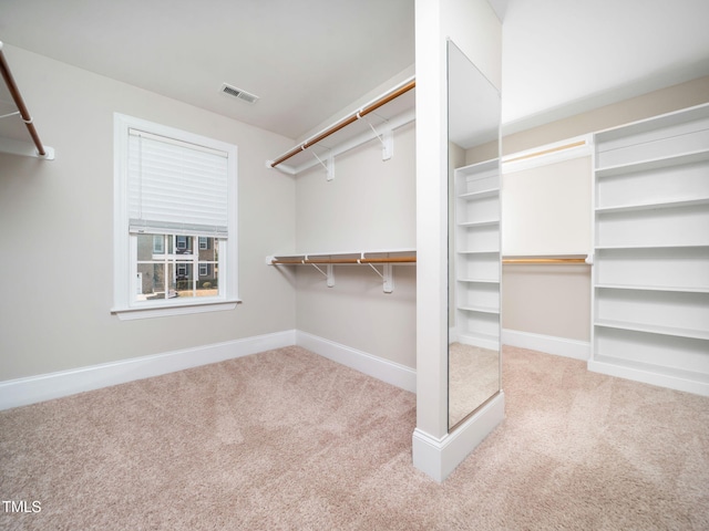
<instances>
[{"instance_id":1,"label":"wall behind the double hanging rods, above and below the lower shelf","mask_svg":"<svg viewBox=\"0 0 709 531\"><path fill-rule=\"evenodd\" d=\"M391 159L372 137L335 157L333 180L318 165L295 183L296 251L415 249L413 123L394 131ZM415 266L394 267L392 293L368 266L336 266L332 288L315 268L296 277L299 331L415 367Z\"/></svg>"}]
</instances>

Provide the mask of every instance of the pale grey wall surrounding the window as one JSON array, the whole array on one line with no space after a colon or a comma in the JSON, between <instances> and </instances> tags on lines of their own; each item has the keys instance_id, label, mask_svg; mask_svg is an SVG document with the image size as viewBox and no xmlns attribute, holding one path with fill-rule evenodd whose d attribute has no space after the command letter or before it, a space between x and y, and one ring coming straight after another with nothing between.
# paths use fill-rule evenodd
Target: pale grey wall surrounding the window
<instances>
[{"instance_id":1,"label":"pale grey wall surrounding the window","mask_svg":"<svg viewBox=\"0 0 709 531\"><path fill-rule=\"evenodd\" d=\"M0 154L0 382L295 327L295 289L264 261L295 244L295 184L265 167L292 140L7 43L4 52L56 159ZM236 310L110 313L114 112L238 146Z\"/></svg>"}]
</instances>

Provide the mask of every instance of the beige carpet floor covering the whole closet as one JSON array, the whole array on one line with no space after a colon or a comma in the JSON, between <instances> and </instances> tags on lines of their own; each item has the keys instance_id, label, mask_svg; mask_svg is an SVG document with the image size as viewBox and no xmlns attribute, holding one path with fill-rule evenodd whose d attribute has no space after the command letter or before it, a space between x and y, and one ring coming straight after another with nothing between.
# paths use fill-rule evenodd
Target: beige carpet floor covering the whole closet
<instances>
[{"instance_id":1,"label":"beige carpet floor covering the whole closet","mask_svg":"<svg viewBox=\"0 0 709 531\"><path fill-rule=\"evenodd\" d=\"M299 347L0 413L12 530L707 530L709 398L505 347L506 419L438 483L415 400Z\"/></svg>"}]
</instances>

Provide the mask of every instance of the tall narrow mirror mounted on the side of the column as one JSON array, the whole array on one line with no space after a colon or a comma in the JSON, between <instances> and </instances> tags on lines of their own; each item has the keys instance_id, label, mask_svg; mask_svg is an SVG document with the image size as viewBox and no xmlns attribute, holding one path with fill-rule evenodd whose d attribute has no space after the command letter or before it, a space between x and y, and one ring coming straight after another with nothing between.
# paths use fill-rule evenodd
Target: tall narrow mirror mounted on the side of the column
<instances>
[{"instance_id":1,"label":"tall narrow mirror mounted on the side of the column","mask_svg":"<svg viewBox=\"0 0 709 531\"><path fill-rule=\"evenodd\" d=\"M449 430L501 388L500 113L500 92L449 41Z\"/></svg>"}]
</instances>

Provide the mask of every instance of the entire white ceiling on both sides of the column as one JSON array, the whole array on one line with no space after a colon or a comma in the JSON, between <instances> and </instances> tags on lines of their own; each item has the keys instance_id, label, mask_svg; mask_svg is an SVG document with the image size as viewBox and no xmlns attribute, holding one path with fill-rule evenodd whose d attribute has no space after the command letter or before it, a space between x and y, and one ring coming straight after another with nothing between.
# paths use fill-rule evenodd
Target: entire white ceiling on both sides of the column
<instances>
[{"instance_id":1,"label":"entire white ceiling on both sides of the column","mask_svg":"<svg viewBox=\"0 0 709 531\"><path fill-rule=\"evenodd\" d=\"M490 1L507 132L709 74L707 0ZM0 40L299 138L412 72L413 4L0 0Z\"/></svg>"}]
</instances>

